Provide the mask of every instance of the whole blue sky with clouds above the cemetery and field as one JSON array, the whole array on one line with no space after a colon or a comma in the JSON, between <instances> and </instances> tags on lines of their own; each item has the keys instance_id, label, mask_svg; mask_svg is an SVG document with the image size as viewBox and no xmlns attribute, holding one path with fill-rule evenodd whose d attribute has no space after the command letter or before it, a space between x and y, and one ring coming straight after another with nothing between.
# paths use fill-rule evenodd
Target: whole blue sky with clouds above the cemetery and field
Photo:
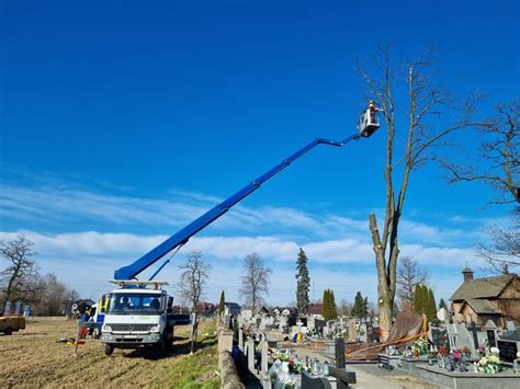
<instances>
[{"instance_id":1,"label":"whole blue sky with clouds above the cemetery and field","mask_svg":"<svg viewBox=\"0 0 520 389\"><path fill-rule=\"evenodd\" d=\"M315 137L342 139L366 103L354 70L393 42L396 60L438 47L439 82L488 93L478 115L518 98L515 1L0 1L0 236L24 233L42 272L87 297L216 202ZM403 96L398 98L402 102ZM399 123L406 113L399 111ZM403 130L403 129L402 129ZM475 157L475 137L462 139ZM240 260L273 270L271 304L294 298L309 256L312 295L375 300L368 215L384 208L384 130L320 147L202 231L161 273L202 250L206 298L239 300ZM402 253L441 297L473 245L504 222L493 192L415 172ZM477 273L478 275L478 273Z\"/></svg>"}]
</instances>

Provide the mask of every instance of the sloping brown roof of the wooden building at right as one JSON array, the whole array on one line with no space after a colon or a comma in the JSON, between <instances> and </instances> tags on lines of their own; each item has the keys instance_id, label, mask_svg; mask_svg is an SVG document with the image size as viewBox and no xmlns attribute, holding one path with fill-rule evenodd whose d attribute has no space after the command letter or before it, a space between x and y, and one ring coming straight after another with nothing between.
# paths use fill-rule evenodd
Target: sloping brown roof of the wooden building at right
<instances>
[{"instance_id":1,"label":"sloping brown roof of the wooden building at right","mask_svg":"<svg viewBox=\"0 0 520 389\"><path fill-rule=\"evenodd\" d=\"M505 274L495 277L468 279L451 296L452 301L470 300L473 298L498 297L516 274Z\"/></svg>"}]
</instances>

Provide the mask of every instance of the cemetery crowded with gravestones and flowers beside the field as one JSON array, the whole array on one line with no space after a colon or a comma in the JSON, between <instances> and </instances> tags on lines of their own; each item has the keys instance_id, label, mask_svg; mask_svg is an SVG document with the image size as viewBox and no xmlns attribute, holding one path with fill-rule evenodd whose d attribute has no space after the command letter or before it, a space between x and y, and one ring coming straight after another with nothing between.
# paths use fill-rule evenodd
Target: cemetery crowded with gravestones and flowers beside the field
<instances>
[{"instance_id":1,"label":"cemetery crowded with gravestones and flowers beside the field","mask_svg":"<svg viewBox=\"0 0 520 389\"><path fill-rule=\"evenodd\" d=\"M518 388L518 322L505 320L500 328L496 321L502 323L501 318L479 325L454 317L456 312L442 308L428 322L425 314L403 311L384 342L376 318L327 321L286 307L261 307L256 313L244 309L225 316L223 323L237 375L263 388L355 387L359 364L439 387Z\"/></svg>"}]
</instances>

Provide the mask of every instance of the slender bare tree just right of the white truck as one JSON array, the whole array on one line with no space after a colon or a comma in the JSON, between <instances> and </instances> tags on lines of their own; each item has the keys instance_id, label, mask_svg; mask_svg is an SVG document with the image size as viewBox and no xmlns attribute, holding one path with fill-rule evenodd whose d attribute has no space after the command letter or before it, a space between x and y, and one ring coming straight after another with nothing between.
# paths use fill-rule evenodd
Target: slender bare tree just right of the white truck
<instances>
[{"instance_id":1,"label":"slender bare tree just right of the white truck","mask_svg":"<svg viewBox=\"0 0 520 389\"><path fill-rule=\"evenodd\" d=\"M210 277L210 265L202 259L202 252L193 251L188 254L186 260L179 266L181 279L179 282L179 296L184 304L191 306L193 313L191 352L193 353L199 328L197 306L204 294L204 286Z\"/></svg>"}]
</instances>

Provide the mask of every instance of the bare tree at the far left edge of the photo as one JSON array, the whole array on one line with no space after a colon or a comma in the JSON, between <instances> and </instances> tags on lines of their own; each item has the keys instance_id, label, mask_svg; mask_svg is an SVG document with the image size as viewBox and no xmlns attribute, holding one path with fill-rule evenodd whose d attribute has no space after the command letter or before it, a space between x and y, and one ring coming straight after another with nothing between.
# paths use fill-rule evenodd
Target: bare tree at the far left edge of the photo
<instances>
[{"instance_id":1,"label":"bare tree at the far left edge of the photo","mask_svg":"<svg viewBox=\"0 0 520 389\"><path fill-rule=\"evenodd\" d=\"M10 241L0 241L0 255L8 261L8 267L0 272L2 310L8 300L32 298L34 279L38 275L36 262L32 260L34 243L23 236Z\"/></svg>"}]
</instances>

